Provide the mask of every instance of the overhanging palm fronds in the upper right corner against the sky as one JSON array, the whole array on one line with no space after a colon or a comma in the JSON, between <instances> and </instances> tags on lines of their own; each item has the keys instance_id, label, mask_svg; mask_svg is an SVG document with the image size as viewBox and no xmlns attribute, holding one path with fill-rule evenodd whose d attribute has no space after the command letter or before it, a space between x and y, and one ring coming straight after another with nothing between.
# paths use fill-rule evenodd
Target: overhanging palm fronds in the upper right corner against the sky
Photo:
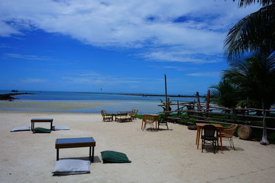
<instances>
[{"instance_id":1,"label":"overhanging palm fronds in the upper right corner against the sky","mask_svg":"<svg viewBox=\"0 0 275 183\"><path fill-rule=\"evenodd\" d=\"M234 0L233 0L234 1ZM239 7L255 3L256 0L239 0ZM243 53L261 51L266 57L275 50L275 1L257 1L263 8L245 16L226 35L225 55L234 60Z\"/></svg>"}]
</instances>

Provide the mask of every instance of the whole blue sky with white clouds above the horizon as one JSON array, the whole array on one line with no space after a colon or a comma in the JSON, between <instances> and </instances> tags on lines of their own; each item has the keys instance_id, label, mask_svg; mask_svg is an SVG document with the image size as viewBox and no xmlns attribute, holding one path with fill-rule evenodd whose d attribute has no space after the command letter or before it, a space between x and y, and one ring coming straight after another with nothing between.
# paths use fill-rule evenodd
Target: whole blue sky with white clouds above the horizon
<instances>
[{"instance_id":1,"label":"whole blue sky with white clouds above the horizon","mask_svg":"<svg viewBox=\"0 0 275 183\"><path fill-rule=\"evenodd\" d=\"M206 93L223 41L259 5L223 0L0 0L0 90Z\"/></svg>"}]
</instances>

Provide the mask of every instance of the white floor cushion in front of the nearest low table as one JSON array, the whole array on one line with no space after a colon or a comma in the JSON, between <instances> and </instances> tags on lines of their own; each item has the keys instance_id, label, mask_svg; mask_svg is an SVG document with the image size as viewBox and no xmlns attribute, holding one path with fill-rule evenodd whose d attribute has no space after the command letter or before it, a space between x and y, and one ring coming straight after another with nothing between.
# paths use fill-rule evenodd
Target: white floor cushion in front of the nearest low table
<instances>
[{"instance_id":1,"label":"white floor cushion in front of the nearest low table","mask_svg":"<svg viewBox=\"0 0 275 183\"><path fill-rule=\"evenodd\" d=\"M58 160L56 161L56 167L52 171L54 175L73 175L90 173L90 162L87 160Z\"/></svg>"}]
</instances>

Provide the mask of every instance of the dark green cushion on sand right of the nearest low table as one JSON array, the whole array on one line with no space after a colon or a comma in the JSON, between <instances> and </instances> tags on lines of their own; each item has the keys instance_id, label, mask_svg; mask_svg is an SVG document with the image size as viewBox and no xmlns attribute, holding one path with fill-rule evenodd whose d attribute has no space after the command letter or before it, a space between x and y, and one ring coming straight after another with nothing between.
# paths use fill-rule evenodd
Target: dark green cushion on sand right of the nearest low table
<instances>
[{"instance_id":1,"label":"dark green cushion on sand right of the nearest low table","mask_svg":"<svg viewBox=\"0 0 275 183\"><path fill-rule=\"evenodd\" d=\"M117 151L102 151L100 152L103 162L131 162L126 154Z\"/></svg>"}]
</instances>

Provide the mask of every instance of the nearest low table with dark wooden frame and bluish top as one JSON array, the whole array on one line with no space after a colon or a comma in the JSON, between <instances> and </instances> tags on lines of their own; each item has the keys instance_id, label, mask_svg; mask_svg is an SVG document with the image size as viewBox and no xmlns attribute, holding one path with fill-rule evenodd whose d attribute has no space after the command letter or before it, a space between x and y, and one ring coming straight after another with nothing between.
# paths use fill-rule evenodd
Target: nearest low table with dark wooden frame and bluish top
<instances>
[{"instance_id":1,"label":"nearest low table with dark wooden frame and bluish top","mask_svg":"<svg viewBox=\"0 0 275 183\"><path fill-rule=\"evenodd\" d=\"M74 148L74 147L89 147L89 160L94 162L94 147L96 141L93 137L83 138L56 138L56 160L59 160L59 149ZM91 155L91 147L93 147Z\"/></svg>"}]
</instances>

